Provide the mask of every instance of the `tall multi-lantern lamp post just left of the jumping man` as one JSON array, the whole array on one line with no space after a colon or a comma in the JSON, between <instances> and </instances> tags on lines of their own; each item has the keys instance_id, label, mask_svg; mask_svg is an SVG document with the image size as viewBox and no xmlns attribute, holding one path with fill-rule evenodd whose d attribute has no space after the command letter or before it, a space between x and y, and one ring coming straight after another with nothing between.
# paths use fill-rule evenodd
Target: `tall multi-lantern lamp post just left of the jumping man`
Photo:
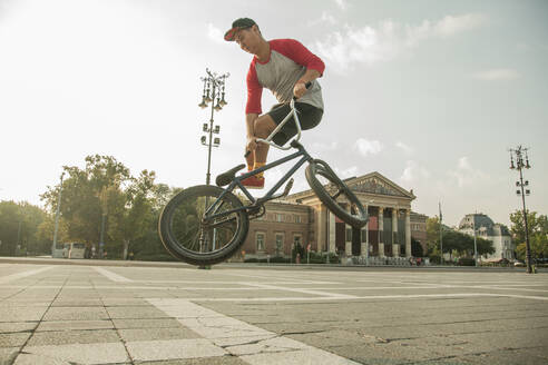
<instances>
[{"instance_id":1,"label":"tall multi-lantern lamp post just left of the jumping man","mask_svg":"<svg viewBox=\"0 0 548 365\"><path fill-rule=\"evenodd\" d=\"M224 73L217 76L215 72L211 72L209 69L206 69L207 76L202 78L204 82L204 91L202 93L202 102L198 105L202 109L207 108L207 105L212 103L212 117L209 119L209 124L205 122L203 126L203 132L205 136L202 136L200 141L202 145L207 147L207 175L206 175L206 184L209 185L211 178L211 167L212 167L212 147L218 147L221 145L221 138L213 137L213 135L218 135L221 131L219 126L213 125L213 114L215 111L221 111L224 106L226 106L225 100L225 81L229 73ZM209 138L207 138L209 137Z\"/></svg>"}]
</instances>

